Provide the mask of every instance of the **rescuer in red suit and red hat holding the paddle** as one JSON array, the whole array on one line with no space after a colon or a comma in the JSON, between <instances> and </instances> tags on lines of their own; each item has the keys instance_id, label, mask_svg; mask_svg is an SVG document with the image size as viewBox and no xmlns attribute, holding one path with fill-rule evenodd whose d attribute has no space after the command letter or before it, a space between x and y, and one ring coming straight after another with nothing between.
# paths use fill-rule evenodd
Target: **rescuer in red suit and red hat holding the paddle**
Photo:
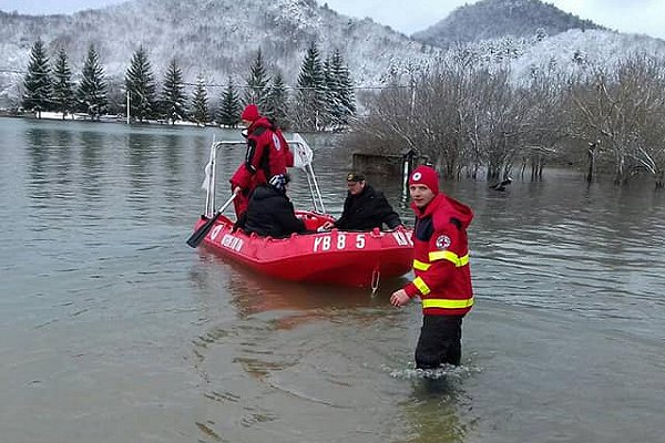
<instances>
[{"instance_id":1,"label":"rescuer in red suit and red hat holding the paddle","mask_svg":"<svg viewBox=\"0 0 665 443\"><path fill-rule=\"evenodd\" d=\"M238 219L247 209L254 188L267 183L274 175L286 174L286 167L294 164L293 153L282 131L268 117L260 115L255 104L245 106L241 119L247 126L247 152L245 162L229 179L231 189L236 194L233 204Z\"/></svg>"}]
</instances>

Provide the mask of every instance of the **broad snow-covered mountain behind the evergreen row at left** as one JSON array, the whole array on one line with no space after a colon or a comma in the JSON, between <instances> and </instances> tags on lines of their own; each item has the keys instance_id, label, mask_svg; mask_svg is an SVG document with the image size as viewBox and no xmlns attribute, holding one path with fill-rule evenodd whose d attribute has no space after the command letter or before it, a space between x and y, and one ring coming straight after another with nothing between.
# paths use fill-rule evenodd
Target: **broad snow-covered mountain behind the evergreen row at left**
<instances>
[{"instance_id":1,"label":"broad snow-covered mountain behind the evergreen row at left","mask_svg":"<svg viewBox=\"0 0 665 443\"><path fill-rule=\"evenodd\" d=\"M440 52L315 0L133 0L72 16L0 11L0 89L20 78L39 37L50 54L66 50L74 73L94 43L106 76L117 81L140 45L157 79L176 58L185 81L203 74L213 84L228 75L244 79L259 48L267 66L280 70L288 84L295 83L311 41L323 58L339 49L357 84L376 83L396 65L424 63Z\"/></svg>"}]
</instances>

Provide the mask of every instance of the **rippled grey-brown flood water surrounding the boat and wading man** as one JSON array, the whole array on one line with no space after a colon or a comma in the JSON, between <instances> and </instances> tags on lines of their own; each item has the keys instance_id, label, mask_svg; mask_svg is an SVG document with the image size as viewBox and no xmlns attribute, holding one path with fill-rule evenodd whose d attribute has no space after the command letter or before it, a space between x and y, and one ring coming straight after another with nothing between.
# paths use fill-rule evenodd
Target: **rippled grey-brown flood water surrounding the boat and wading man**
<instances>
[{"instance_id":1,"label":"rippled grey-brown flood water surrounding the boat and wading man","mask_svg":"<svg viewBox=\"0 0 665 443\"><path fill-rule=\"evenodd\" d=\"M0 119L1 441L665 441L665 192L442 184L475 212L477 305L463 364L430 380L420 307L389 303L408 276L372 297L185 245L213 136L239 138ZM349 159L310 142L339 215ZM219 177L243 154L221 151ZM399 179L372 183L411 223Z\"/></svg>"}]
</instances>

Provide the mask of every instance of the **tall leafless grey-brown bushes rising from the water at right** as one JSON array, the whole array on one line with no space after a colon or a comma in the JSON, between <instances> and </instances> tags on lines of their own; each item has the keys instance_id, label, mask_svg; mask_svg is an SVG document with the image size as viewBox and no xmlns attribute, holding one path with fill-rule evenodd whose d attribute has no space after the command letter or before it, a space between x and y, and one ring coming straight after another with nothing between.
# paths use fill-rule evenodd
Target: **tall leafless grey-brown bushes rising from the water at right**
<instances>
[{"instance_id":1,"label":"tall leafless grey-brown bushes rising from the water at right","mask_svg":"<svg viewBox=\"0 0 665 443\"><path fill-rule=\"evenodd\" d=\"M577 60L563 73L533 68L516 81L505 65L463 58L390 80L369 95L349 145L398 155L413 150L448 178L505 178L545 164L575 165L626 183L637 174L665 184L665 61L633 54L613 66ZM405 87L405 84L408 86Z\"/></svg>"}]
</instances>

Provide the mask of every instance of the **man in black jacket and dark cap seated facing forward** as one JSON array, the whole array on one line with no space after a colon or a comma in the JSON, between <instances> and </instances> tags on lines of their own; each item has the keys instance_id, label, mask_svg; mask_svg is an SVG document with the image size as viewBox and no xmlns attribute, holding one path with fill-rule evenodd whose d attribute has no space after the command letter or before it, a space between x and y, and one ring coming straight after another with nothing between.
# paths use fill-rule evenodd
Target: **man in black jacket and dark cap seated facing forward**
<instances>
[{"instance_id":1,"label":"man in black jacket and dark cap seated facing forward","mask_svg":"<svg viewBox=\"0 0 665 443\"><path fill-rule=\"evenodd\" d=\"M341 217L334 223L325 223L321 226L323 230L331 228L372 230L381 229L383 224L389 229L395 229L402 225L399 215L392 209L383 193L368 184L362 174L349 173L347 188Z\"/></svg>"}]
</instances>

